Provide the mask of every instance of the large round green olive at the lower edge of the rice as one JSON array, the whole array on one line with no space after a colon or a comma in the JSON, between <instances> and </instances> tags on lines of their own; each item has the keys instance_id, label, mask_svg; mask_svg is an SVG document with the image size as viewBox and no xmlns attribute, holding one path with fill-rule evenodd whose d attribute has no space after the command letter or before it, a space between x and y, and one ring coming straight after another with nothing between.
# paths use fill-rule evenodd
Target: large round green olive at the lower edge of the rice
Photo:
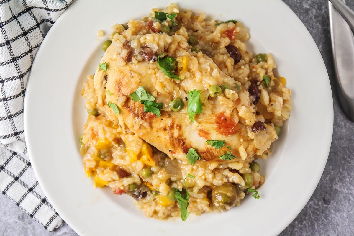
<instances>
[{"instance_id":1,"label":"large round green olive at the lower edge of the rice","mask_svg":"<svg viewBox=\"0 0 354 236\"><path fill-rule=\"evenodd\" d=\"M238 185L226 183L215 186L211 191L211 201L214 207L221 211L227 211L239 201L240 193L241 190Z\"/></svg>"}]
</instances>

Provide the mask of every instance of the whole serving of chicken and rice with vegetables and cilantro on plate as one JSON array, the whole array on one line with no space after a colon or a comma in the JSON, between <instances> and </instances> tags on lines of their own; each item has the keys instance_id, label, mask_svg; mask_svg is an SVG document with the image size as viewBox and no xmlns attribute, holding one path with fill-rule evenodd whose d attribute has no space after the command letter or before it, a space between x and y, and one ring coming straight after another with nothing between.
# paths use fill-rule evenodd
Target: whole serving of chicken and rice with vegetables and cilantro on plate
<instances>
[{"instance_id":1,"label":"whole serving of chicken and rice with vegetables and cilantro on plate","mask_svg":"<svg viewBox=\"0 0 354 236\"><path fill-rule=\"evenodd\" d=\"M259 197L256 160L270 155L291 93L270 53L247 51L250 35L236 20L171 4L114 25L82 90L80 151L95 186L132 196L158 219Z\"/></svg>"}]
</instances>

